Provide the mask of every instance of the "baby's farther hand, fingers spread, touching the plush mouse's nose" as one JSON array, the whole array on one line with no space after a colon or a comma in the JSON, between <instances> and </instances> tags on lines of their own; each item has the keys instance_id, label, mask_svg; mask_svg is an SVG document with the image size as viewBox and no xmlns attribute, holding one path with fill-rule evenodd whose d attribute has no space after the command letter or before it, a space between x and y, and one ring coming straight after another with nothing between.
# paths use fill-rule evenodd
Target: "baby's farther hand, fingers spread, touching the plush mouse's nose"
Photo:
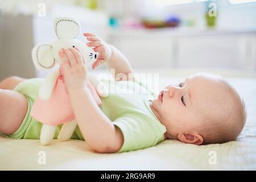
<instances>
[{"instance_id":1,"label":"baby's farther hand, fingers spread, touching the plush mouse's nose","mask_svg":"<svg viewBox=\"0 0 256 182\"><path fill-rule=\"evenodd\" d=\"M112 49L109 44L105 43L103 40L91 33L84 33L84 36L90 41L87 43L87 46L94 47L93 50L98 52L97 60L92 64L93 69L110 59Z\"/></svg>"}]
</instances>

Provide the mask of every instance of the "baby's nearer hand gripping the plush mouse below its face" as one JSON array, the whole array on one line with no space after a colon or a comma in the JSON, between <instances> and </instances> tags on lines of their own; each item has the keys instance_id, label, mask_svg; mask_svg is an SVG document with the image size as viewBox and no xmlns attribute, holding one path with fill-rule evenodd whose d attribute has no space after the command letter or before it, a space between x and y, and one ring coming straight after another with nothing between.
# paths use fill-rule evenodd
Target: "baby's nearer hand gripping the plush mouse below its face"
<instances>
[{"instance_id":1,"label":"baby's nearer hand gripping the plush mouse below its face","mask_svg":"<svg viewBox=\"0 0 256 182\"><path fill-rule=\"evenodd\" d=\"M60 62L63 65L65 86L68 91L84 88L88 78L84 65L84 57L76 48L62 48L59 51Z\"/></svg>"}]
</instances>

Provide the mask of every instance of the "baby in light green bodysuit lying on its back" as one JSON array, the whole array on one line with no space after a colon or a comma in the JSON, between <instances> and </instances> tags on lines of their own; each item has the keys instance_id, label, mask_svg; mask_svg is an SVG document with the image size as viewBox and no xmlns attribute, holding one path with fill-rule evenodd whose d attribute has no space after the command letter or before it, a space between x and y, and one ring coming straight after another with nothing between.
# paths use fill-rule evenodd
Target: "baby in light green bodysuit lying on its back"
<instances>
[{"instance_id":1,"label":"baby in light green bodysuit lying on its back","mask_svg":"<svg viewBox=\"0 0 256 182\"><path fill-rule=\"evenodd\" d=\"M116 81L129 88L148 90L134 80L126 57L94 34L85 33L87 45L98 52L93 69L104 63L128 80ZM97 106L86 88L88 72L78 49L61 49L64 81L78 127L72 139L85 139L95 152L111 153L155 146L166 139L210 144L236 140L246 121L245 106L223 78L207 73L189 76L168 85L157 96L150 92L110 93ZM0 82L0 134L9 138L39 139L42 123L30 110L42 78L9 77ZM109 82L112 84L112 82ZM149 100L152 96L155 99ZM61 126L58 126L60 130ZM55 138L59 133L56 130Z\"/></svg>"}]
</instances>

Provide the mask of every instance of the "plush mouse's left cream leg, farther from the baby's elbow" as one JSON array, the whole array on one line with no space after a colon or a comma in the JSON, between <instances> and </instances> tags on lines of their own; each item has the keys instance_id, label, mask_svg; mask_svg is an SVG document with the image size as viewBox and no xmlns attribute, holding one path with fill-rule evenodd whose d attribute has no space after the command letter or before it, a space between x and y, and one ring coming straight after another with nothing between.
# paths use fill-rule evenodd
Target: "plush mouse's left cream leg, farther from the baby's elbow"
<instances>
[{"instance_id":1,"label":"plush mouse's left cream leg, farther from the baby's elbow","mask_svg":"<svg viewBox=\"0 0 256 182\"><path fill-rule=\"evenodd\" d=\"M51 142L55 135L57 126L43 125L40 135L40 142L43 146L46 146Z\"/></svg>"}]
</instances>

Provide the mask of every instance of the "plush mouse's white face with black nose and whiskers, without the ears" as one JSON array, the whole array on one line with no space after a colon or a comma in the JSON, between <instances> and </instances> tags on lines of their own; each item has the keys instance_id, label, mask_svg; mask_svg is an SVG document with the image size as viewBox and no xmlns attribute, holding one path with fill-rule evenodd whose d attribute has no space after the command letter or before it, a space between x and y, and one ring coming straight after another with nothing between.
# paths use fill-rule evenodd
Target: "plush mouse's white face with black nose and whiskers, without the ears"
<instances>
[{"instance_id":1,"label":"plush mouse's white face with black nose and whiskers, without the ears","mask_svg":"<svg viewBox=\"0 0 256 182\"><path fill-rule=\"evenodd\" d=\"M59 64L59 51L61 48L78 48L84 56L85 63L94 62L97 59L97 53L92 48L86 46L86 43L76 39L58 39L52 44L52 56Z\"/></svg>"}]
</instances>

